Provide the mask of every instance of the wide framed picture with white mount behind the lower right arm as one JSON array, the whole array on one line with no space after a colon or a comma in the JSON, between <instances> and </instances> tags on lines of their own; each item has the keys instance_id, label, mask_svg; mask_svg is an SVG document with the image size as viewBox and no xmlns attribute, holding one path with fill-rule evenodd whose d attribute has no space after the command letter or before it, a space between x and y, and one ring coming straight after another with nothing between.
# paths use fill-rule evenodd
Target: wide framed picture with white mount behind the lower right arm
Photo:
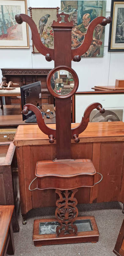
<instances>
[{"instance_id":1,"label":"wide framed picture with white mount behind the lower right arm","mask_svg":"<svg viewBox=\"0 0 124 256\"><path fill-rule=\"evenodd\" d=\"M105 113L101 114L98 110L92 110L89 122L124 122L124 93L95 93L95 92L76 92L72 102L73 122L80 123L85 109L93 102L102 103ZM83 102L83 106L81 105ZM82 106L82 107L81 107Z\"/></svg>"}]
</instances>

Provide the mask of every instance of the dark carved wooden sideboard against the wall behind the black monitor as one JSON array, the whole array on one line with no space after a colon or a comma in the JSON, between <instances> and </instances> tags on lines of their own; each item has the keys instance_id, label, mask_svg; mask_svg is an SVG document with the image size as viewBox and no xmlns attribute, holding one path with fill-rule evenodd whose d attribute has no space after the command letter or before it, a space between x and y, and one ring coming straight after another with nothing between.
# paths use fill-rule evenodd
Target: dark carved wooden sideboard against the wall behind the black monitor
<instances>
[{"instance_id":1,"label":"dark carved wooden sideboard against the wall behind the black monitor","mask_svg":"<svg viewBox=\"0 0 124 256\"><path fill-rule=\"evenodd\" d=\"M12 81L23 86L36 81L41 81L42 104L53 104L53 96L47 89L46 78L51 68L1 68L2 81ZM5 104L19 104L16 97L5 97Z\"/></svg>"}]
</instances>

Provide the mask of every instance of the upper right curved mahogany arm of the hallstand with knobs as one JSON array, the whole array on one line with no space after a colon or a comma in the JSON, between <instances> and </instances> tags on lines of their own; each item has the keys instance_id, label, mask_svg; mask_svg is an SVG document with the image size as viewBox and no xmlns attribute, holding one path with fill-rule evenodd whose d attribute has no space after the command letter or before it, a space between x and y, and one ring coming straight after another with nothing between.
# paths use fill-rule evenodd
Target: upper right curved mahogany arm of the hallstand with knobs
<instances>
[{"instance_id":1,"label":"upper right curved mahogany arm of the hallstand with knobs","mask_svg":"<svg viewBox=\"0 0 124 256\"><path fill-rule=\"evenodd\" d=\"M111 17L97 17L96 19L92 20L88 26L87 33L84 36L84 41L83 43L76 49L72 50L72 59L74 61L80 61L81 60L81 55L83 55L85 52L88 51L89 46L93 40L93 31L94 28L98 25L101 24L102 26L105 26L107 23L110 23L112 21Z\"/></svg>"}]
</instances>

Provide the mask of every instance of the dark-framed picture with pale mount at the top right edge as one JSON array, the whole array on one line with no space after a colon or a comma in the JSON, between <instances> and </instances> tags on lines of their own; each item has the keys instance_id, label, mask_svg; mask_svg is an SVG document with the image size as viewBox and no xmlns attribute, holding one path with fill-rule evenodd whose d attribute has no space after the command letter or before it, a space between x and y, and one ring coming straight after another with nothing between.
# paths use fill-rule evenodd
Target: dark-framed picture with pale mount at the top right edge
<instances>
[{"instance_id":1,"label":"dark-framed picture with pale mount at the top right edge","mask_svg":"<svg viewBox=\"0 0 124 256\"><path fill-rule=\"evenodd\" d=\"M112 0L108 51L124 51L124 1Z\"/></svg>"}]
</instances>

